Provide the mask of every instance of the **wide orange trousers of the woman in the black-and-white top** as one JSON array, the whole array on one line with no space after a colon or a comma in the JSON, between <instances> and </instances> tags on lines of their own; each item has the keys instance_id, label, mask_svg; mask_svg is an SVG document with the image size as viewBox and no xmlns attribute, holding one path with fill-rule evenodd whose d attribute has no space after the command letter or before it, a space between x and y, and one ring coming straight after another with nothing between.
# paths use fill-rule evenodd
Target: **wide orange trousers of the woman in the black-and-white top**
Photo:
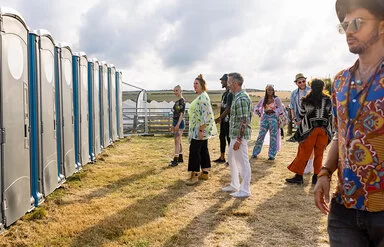
<instances>
[{"instance_id":1,"label":"wide orange trousers of the woman in the black-and-white top","mask_svg":"<svg viewBox=\"0 0 384 247\"><path fill-rule=\"evenodd\" d=\"M327 144L328 136L324 128L314 128L307 139L299 143L296 158L288 166L288 169L291 172L303 175L305 166L307 165L313 150L315 154L313 161L314 174L319 174L323 162L324 150L327 147Z\"/></svg>"}]
</instances>

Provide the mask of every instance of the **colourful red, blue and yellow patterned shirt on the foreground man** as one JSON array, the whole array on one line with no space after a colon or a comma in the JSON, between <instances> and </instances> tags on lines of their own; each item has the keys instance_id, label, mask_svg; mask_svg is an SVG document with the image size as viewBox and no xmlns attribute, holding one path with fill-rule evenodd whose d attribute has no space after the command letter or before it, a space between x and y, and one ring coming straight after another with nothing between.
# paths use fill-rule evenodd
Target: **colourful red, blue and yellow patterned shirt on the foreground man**
<instances>
[{"instance_id":1,"label":"colourful red, blue and yellow patterned shirt on the foreground man","mask_svg":"<svg viewBox=\"0 0 384 247\"><path fill-rule=\"evenodd\" d=\"M347 208L384 211L384 62L358 91L358 62L341 71L332 100L339 143L336 201Z\"/></svg>"}]
</instances>

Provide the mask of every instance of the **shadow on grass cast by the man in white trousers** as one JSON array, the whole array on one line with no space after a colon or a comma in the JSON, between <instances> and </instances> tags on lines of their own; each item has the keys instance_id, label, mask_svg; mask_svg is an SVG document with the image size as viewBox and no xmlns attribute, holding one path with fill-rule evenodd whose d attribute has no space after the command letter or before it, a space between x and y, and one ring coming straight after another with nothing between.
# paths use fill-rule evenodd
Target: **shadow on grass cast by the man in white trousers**
<instances>
[{"instance_id":1,"label":"shadow on grass cast by the man in white trousers","mask_svg":"<svg viewBox=\"0 0 384 247\"><path fill-rule=\"evenodd\" d=\"M232 217L232 212L242 203L242 200L237 199L233 201L232 205L222 209L223 204L233 198L221 191L214 193L213 197L219 198L217 203L195 216L188 225L171 236L162 246L204 246L205 238L217 229L223 218Z\"/></svg>"}]
</instances>

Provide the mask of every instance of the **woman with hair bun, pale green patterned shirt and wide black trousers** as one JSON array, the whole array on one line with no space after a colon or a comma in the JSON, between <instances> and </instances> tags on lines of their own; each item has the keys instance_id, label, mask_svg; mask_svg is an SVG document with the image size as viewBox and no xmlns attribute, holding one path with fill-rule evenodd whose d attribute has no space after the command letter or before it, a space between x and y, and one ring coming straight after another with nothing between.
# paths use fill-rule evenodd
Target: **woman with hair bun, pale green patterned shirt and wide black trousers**
<instances>
[{"instance_id":1,"label":"woman with hair bun, pale green patterned shirt and wide black trousers","mask_svg":"<svg viewBox=\"0 0 384 247\"><path fill-rule=\"evenodd\" d=\"M200 74L196 77L193 88L197 97L189 105L188 171L191 176L186 181L187 185L196 184L199 179L209 179L211 159L208 151L208 139L217 134L211 100L206 92L206 82L203 75ZM200 170L202 170L201 174Z\"/></svg>"}]
</instances>

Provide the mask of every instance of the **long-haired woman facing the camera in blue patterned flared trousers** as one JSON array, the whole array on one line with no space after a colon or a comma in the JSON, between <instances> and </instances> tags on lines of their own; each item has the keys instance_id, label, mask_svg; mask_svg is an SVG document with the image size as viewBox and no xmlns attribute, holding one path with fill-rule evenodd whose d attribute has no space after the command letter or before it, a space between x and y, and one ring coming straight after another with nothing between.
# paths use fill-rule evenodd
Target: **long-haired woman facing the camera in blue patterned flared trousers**
<instances>
[{"instance_id":1,"label":"long-haired woman facing the camera in blue patterned flared trousers","mask_svg":"<svg viewBox=\"0 0 384 247\"><path fill-rule=\"evenodd\" d=\"M264 98L257 103L254 108L254 113L260 117L260 130L255 142L255 147L253 148L252 158L257 158L261 152L265 135L269 131L268 160L274 160L281 145L278 116L285 114L285 112L280 98L275 95L273 85L268 84L266 86Z\"/></svg>"}]
</instances>

